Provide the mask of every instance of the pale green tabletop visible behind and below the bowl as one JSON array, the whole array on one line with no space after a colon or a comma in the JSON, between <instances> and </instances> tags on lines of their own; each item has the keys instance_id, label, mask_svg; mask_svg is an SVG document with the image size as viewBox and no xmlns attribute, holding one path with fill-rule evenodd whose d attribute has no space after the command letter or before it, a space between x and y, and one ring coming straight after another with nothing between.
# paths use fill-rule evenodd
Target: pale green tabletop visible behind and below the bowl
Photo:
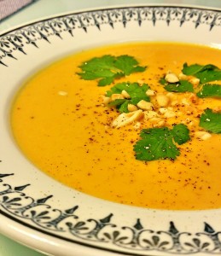
<instances>
[{"instance_id":1,"label":"pale green tabletop visible behind and below the bowl","mask_svg":"<svg viewBox=\"0 0 221 256\"><path fill-rule=\"evenodd\" d=\"M10 30L12 27L20 26L31 20L38 20L50 15L72 12L79 9L108 7L125 3L179 3L221 8L221 0L38 0L27 6L25 9L20 10L15 15L11 15L9 18L2 20L2 22L0 20L0 34L3 31ZM43 256L44 254L35 252L0 234L0 256L15 255Z\"/></svg>"}]
</instances>

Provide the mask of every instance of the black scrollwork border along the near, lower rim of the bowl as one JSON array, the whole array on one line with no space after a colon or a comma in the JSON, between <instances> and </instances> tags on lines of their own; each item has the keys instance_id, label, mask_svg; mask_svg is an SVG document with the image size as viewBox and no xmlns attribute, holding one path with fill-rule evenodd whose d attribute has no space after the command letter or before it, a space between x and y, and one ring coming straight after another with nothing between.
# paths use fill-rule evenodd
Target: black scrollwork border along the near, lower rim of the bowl
<instances>
[{"instance_id":1,"label":"black scrollwork border along the near, lower rim of the bowl","mask_svg":"<svg viewBox=\"0 0 221 256\"><path fill-rule=\"evenodd\" d=\"M38 200L24 193L29 184L12 188L8 183L3 183L3 178L14 174L0 174L0 207L7 212L9 218L28 221L29 226L48 235L80 244L95 246L108 250L107 245L119 247L118 253L143 253L165 252L171 254L194 253L221 253L221 230L217 231L210 224L205 223L202 230L192 232L177 230L173 221L168 223L168 230L151 230L142 224L138 218L131 226L114 224L113 213L100 219L81 219L75 212L79 206L71 207L65 211L49 206L52 195ZM66 239L65 233L73 236ZM123 251L122 251L123 250ZM112 251L110 249L110 251Z\"/></svg>"}]
</instances>

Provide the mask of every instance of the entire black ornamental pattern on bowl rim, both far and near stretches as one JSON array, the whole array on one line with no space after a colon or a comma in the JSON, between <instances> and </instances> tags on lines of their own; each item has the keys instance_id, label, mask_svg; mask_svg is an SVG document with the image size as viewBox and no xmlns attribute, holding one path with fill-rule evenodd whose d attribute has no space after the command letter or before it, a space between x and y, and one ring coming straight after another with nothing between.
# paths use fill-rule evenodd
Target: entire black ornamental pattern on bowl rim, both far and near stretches
<instances>
[{"instance_id":1,"label":"entire black ornamental pattern on bowl rim, both far and near stretches","mask_svg":"<svg viewBox=\"0 0 221 256\"><path fill-rule=\"evenodd\" d=\"M49 43L53 36L62 39L63 33L74 37L76 30L88 32L91 26L96 26L98 31L102 31L103 25L114 29L116 23L127 27L131 21L136 21L137 26L143 26L144 22L157 26L160 20L165 21L167 26L174 20L179 26L191 22L195 29L206 25L208 31L221 26L221 14L218 11L181 7L105 9L65 15L33 23L0 36L0 64L7 67L7 60L16 60L18 52L27 54L26 45L38 48L38 41ZM221 253L221 230L214 230L210 224L205 223L201 230L192 233L177 230L174 221L168 223L167 230L148 229L148 224L143 224L139 218L131 226L119 226L114 223L113 213L99 219L82 219L77 214L79 206L67 210L55 209L49 205L52 195L33 199L24 193L30 184L13 188L9 183L3 183L10 175L14 174L0 173L0 213L50 236L127 255L156 252ZM73 239L67 239L65 234ZM108 249L108 244L116 249Z\"/></svg>"}]
</instances>

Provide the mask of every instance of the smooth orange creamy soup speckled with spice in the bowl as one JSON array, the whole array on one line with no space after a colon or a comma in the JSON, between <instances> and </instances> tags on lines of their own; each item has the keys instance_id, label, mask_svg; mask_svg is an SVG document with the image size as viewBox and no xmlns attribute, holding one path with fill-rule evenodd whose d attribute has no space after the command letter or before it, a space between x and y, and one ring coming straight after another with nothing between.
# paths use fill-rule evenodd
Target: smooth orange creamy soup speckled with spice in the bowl
<instances>
[{"instance_id":1,"label":"smooth orange creamy soup speckled with spice in the bowl","mask_svg":"<svg viewBox=\"0 0 221 256\"><path fill-rule=\"evenodd\" d=\"M187 125L191 140L179 146L176 160L136 160L133 145L153 124L114 128L119 113L102 97L113 84L97 86L78 74L84 61L107 54L131 55L147 67L114 83L142 81L159 93L165 93L160 78L168 71L180 73L185 62L221 67L221 50L189 44L118 44L70 55L28 79L15 97L11 125L21 151L50 177L108 201L170 210L221 207L221 135L192 136L197 112L221 108L221 100L191 102L190 93L179 94L184 113L166 124Z\"/></svg>"}]
</instances>

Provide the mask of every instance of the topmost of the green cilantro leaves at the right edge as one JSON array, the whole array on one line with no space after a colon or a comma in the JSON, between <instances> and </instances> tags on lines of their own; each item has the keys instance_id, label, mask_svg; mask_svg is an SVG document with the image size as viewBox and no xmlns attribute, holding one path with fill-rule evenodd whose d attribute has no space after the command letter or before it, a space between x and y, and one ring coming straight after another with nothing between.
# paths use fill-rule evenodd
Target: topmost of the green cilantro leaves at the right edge
<instances>
[{"instance_id":1,"label":"topmost of the green cilantro leaves at the right edge","mask_svg":"<svg viewBox=\"0 0 221 256\"><path fill-rule=\"evenodd\" d=\"M195 76L197 79L200 79L201 84L221 79L221 70L212 64L208 64L205 66L193 64L188 66L185 63L183 65L182 72L186 75L192 75Z\"/></svg>"}]
</instances>

